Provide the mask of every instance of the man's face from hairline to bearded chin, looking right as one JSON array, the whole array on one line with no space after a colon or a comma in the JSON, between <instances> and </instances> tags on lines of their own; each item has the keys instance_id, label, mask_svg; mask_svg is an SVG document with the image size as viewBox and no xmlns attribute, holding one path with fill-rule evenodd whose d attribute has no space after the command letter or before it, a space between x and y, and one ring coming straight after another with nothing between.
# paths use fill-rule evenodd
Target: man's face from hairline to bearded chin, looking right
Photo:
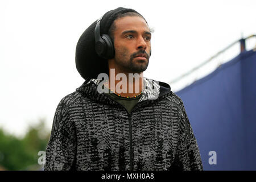
<instances>
[{"instance_id":1,"label":"man's face from hairline to bearded chin, looking right","mask_svg":"<svg viewBox=\"0 0 256 182\"><path fill-rule=\"evenodd\" d=\"M147 69L151 51L151 33L141 16L125 16L114 21L115 64L127 73Z\"/></svg>"}]
</instances>

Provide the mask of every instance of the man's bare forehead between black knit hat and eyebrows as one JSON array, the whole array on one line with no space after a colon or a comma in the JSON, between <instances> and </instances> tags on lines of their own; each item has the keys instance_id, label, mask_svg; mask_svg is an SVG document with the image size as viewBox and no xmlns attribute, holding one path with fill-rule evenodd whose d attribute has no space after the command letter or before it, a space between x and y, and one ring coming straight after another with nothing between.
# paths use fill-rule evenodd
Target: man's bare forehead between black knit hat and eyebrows
<instances>
[{"instance_id":1,"label":"man's bare forehead between black knit hat and eyebrows","mask_svg":"<svg viewBox=\"0 0 256 182\"><path fill-rule=\"evenodd\" d=\"M146 21L141 16L125 16L114 21L115 33L125 30L150 31Z\"/></svg>"}]
</instances>

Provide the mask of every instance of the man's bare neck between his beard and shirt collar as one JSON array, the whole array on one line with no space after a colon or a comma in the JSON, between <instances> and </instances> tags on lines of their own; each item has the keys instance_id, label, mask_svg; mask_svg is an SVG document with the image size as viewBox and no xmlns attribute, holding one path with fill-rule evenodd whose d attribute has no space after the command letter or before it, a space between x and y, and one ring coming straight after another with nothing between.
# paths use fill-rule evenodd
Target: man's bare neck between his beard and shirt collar
<instances>
[{"instance_id":1,"label":"man's bare neck between his beard and shirt collar","mask_svg":"<svg viewBox=\"0 0 256 182\"><path fill-rule=\"evenodd\" d=\"M128 73L109 68L109 89L122 97L138 96L143 90L143 72Z\"/></svg>"}]
</instances>

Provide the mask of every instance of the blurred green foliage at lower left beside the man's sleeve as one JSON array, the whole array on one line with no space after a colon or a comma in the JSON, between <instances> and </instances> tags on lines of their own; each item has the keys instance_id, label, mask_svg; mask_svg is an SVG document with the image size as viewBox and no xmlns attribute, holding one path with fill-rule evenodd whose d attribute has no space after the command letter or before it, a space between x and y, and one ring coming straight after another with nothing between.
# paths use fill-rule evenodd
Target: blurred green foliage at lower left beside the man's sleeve
<instances>
[{"instance_id":1,"label":"blurred green foliage at lower left beside the man's sleeve","mask_svg":"<svg viewBox=\"0 0 256 182\"><path fill-rule=\"evenodd\" d=\"M39 170L38 152L46 151L51 132L46 130L45 119L30 126L23 138L18 138L0 129L0 169Z\"/></svg>"}]
</instances>

